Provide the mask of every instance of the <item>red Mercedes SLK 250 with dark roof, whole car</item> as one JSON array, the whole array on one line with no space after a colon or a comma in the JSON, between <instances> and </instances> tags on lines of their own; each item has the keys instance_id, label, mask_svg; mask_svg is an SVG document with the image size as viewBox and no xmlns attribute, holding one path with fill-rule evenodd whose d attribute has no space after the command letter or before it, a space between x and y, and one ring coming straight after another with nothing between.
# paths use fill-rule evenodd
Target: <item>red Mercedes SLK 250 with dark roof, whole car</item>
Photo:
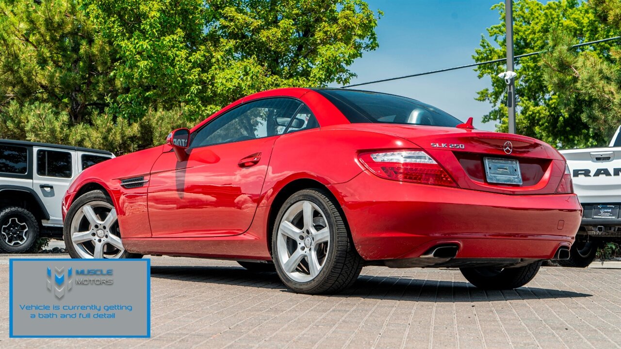
<instances>
[{"instance_id":1,"label":"red Mercedes SLK 250 with dark roof, whole car","mask_svg":"<svg viewBox=\"0 0 621 349\"><path fill-rule=\"evenodd\" d=\"M569 257L581 214L550 145L350 89L244 97L84 170L63 199L73 258L236 260L309 294L347 288L365 265L517 288Z\"/></svg>"}]
</instances>

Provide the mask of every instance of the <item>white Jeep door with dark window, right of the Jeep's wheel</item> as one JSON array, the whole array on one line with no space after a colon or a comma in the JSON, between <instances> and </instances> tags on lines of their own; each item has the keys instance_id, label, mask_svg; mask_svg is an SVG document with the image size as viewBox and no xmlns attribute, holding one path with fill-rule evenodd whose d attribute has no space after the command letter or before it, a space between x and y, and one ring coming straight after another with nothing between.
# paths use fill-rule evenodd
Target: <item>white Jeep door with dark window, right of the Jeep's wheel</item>
<instances>
[{"instance_id":1,"label":"white Jeep door with dark window, right of the Jeep's wheel","mask_svg":"<svg viewBox=\"0 0 621 349\"><path fill-rule=\"evenodd\" d=\"M32 189L50 214L50 220L43 220L43 224L62 227L61 201L76 173L76 154L71 150L39 147L33 147L33 152Z\"/></svg>"}]
</instances>

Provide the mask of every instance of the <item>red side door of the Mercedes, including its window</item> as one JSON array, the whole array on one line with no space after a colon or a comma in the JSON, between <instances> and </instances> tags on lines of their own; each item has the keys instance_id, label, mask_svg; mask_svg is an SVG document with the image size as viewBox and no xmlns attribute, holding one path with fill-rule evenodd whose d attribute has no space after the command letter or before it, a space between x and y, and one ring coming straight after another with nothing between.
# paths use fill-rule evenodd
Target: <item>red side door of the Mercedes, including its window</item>
<instances>
[{"instance_id":1,"label":"red side door of the Mercedes, including its window","mask_svg":"<svg viewBox=\"0 0 621 349\"><path fill-rule=\"evenodd\" d=\"M148 213L153 237L237 235L250 227L271 150L302 103L243 103L191 134L188 158L163 153L153 165Z\"/></svg>"}]
</instances>

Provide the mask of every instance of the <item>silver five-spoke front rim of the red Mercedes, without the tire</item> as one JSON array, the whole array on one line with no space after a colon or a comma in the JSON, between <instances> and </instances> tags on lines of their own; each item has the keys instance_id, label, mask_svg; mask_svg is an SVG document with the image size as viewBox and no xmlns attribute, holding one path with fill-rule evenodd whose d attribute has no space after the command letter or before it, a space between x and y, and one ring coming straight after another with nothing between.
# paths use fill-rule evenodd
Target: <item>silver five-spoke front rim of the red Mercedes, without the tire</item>
<instances>
[{"instance_id":1,"label":"silver five-spoke front rim of the red Mercedes, without the tire","mask_svg":"<svg viewBox=\"0 0 621 349\"><path fill-rule=\"evenodd\" d=\"M82 206L71 220L71 243L81 258L120 258L125 248L114 207L104 201Z\"/></svg>"}]
</instances>

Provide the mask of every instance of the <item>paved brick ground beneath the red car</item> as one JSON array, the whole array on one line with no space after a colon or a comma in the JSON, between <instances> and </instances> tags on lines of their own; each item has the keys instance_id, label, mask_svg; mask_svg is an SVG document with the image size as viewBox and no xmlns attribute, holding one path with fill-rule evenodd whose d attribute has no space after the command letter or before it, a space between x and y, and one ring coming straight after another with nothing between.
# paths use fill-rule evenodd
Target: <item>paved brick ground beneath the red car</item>
<instances>
[{"instance_id":1,"label":"paved brick ground beneath the red car","mask_svg":"<svg viewBox=\"0 0 621 349\"><path fill-rule=\"evenodd\" d=\"M458 270L363 269L305 296L237 263L152 258L152 338L9 339L1 348L621 348L621 270L542 268L525 288L481 291ZM0 297L8 299L7 258Z\"/></svg>"}]
</instances>

